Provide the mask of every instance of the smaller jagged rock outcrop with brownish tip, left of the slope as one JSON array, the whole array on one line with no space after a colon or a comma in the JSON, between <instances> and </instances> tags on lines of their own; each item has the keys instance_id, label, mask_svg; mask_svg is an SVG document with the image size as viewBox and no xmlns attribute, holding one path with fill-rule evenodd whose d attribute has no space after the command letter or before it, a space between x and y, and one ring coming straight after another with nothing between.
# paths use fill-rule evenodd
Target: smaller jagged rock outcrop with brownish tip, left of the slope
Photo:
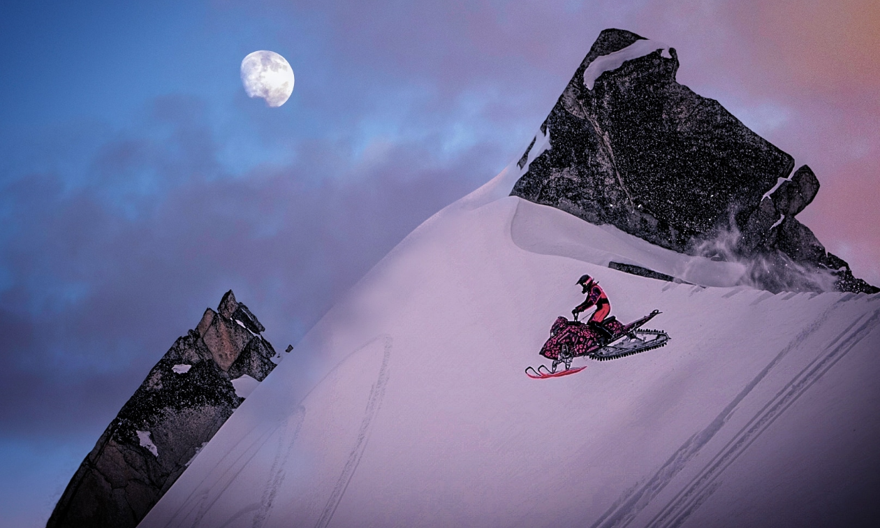
<instances>
[{"instance_id":1,"label":"smaller jagged rock outcrop with brownish tip, left of the slope","mask_svg":"<svg viewBox=\"0 0 880 528\"><path fill-rule=\"evenodd\" d=\"M77 469L48 528L136 526L244 401L232 380L275 368L265 328L232 291L178 338Z\"/></svg>"}]
</instances>

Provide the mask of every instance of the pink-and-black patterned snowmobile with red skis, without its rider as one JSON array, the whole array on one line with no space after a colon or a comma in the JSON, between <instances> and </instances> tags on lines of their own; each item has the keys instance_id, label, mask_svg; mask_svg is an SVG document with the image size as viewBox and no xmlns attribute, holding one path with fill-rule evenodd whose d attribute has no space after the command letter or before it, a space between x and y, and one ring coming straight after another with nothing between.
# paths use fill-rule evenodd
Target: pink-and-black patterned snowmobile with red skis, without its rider
<instances>
[{"instance_id":1,"label":"pink-and-black patterned snowmobile with red skis, without its rider","mask_svg":"<svg viewBox=\"0 0 880 528\"><path fill-rule=\"evenodd\" d=\"M624 325L614 316L605 319L602 326L611 337L605 337L597 328L577 320L569 321L560 316L550 328L550 339L544 343L540 355L553 360L551 368L540 365L538 369L526 367L529 378L559 378L585 369L586 366L571 368L576 357L606 361L619 357L632 356L652 348L660 348L669 341L669 334L662 330L642 329L660 311L650 312L642 319ZM565 368L559 370L564 365Z\"/></svg>"}]
</instances>

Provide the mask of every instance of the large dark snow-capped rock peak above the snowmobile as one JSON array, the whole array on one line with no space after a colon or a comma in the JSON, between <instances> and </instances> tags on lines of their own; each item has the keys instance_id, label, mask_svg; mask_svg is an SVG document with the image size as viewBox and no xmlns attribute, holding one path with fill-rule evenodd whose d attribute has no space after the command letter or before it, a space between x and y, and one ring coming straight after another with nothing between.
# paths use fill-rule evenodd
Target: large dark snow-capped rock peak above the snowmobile
<instances>
[{"instance_id":1,"label":"large dark snow-capped rock peak above the snowmobile","mask_svg":"<svg viewBox=\"0 0 880 528\"><path fill-rule=\"evenodd\" d=\"M674 48L648 47L587 82L590 64L639 40L618 29L599 35L541 125L550 148L526 167L529 145L511 194L679 253L717 249L708 241L730 235L718 256L759 260L749 279L768 290L822 290L811 275L824 274L839 290L872 291L795 219L818 192L810 168L764 198L794 159L678 84Z\"/></svg>"}]
</instances>

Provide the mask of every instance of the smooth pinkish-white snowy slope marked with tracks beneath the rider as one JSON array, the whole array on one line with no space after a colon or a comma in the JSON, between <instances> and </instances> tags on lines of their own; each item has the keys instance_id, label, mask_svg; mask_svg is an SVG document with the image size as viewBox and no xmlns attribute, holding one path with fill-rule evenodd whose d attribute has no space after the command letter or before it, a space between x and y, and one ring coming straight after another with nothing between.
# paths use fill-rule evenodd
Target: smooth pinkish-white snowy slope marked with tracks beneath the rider
<instances>
[{"instance_id":1,"label":"smooth pinkish-white snowy slope marked with tracks beneath the rider","mask_svg":"<svg viewBox=\"0 0 880 528\"><path fill-rule=\"evenodd\" d=\"M880 489L880 296L726 287L732 265L507 196L520 172L511 165L389 253L141 526L832 526L866 515ZM621 320L662 311L649 326L670 344L527 378L556 316L583 300L583 273Z\"/></svg>"}]
</instances>

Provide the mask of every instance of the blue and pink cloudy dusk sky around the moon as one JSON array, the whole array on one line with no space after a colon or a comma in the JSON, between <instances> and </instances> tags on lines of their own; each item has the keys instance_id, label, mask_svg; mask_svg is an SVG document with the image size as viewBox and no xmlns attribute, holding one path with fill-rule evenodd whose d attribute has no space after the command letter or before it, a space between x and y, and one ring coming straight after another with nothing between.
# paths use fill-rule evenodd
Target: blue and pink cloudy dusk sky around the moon
<instances>
[{"instance_id":1,"label":"blue and pink cloudy dusk sky around the moon","mask_svg":"<svg viewBox=\"0 0 880 528\"><path fill-rule=\"evenodd\" d=\"M522 155L607 27L810 165L798 219L880 284L875 0L0 4L0 528L45 524L226 290L296 345ZM258 49L296 74L284 106L241 86Z\"/></svg>"}]
</instances>

